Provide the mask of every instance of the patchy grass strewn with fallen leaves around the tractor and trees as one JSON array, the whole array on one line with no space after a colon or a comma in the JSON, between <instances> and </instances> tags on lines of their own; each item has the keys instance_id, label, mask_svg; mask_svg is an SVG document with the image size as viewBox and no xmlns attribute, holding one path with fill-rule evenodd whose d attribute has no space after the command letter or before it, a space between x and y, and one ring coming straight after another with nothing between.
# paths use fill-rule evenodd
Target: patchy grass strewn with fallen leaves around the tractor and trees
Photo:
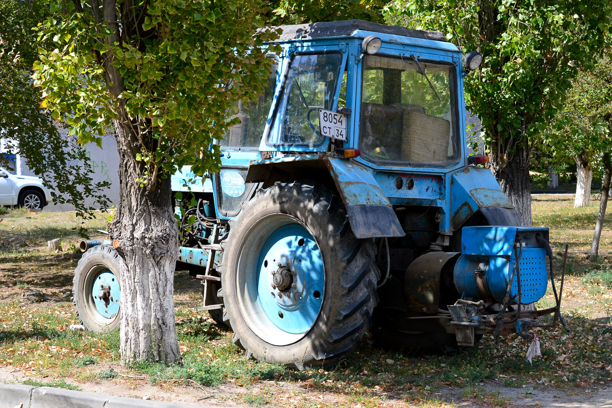
<instances>
[{"instance_id":1,"label":"patchy grass strewn with fallen leaves around the tractor and trees","mask_svg":"<svg viewBox=\"0 0 612 408\"><path fill-rule=\"evenodd\" d=\"M215 398L251 406L359 405L365 408L393 401L392 404L448 407L455 406L454 402L444 401L436 393L444 387L462 387L464 399L482 406L501 407L508 405L507 397L488 386L483 387L483 382L517 387L517 390L609 384L612 380L612 265L609 261L612 236L608 228L604 229L602 256L597 262L587 261L584 254L588 252L592 234L589 222L594 223L593 213L598 203L593 202L586 209L573 209L572 204L571 196L537 196L534 200L534 224L551 228L556 265L561 265L564 243L571 243L562 313L572 336L559 326L554 330L537 329L542 357L534 358L532 364L524 357L529 341L516 335L503 338L499 349L493 338L485 336L476 347L450 355L386 351L367 337L340 365L310 371L247 360L244 352L234 346L229 330L213 324L205 312L196 310L199 287L190 281L187 273L180 272L175 278L175 303L183 365L166 367L138 362L122 367L118 332L95 334L69 329L71 324L78 323L69 298L57 297L53 302L31 305L15 296L0 302L0 365L37 376L102 384L132 377L130 387L142 382L162 389L179 384L233 387L237 391ZM34 216L41 214L44 212ZM7 228L8 224L2 221L0 234L33 236L29 229L41 228L42 222L34 223L29 216L29 213L11 212L10 224L15 228ZM53 228L64 228L66 236L73 234L71 237L74 237L75 221L70 221L65 213L57 217L59 220L53 221ZM104 222L88 224L90 231L102 228ZM39 233L44 232L39 229ZM39 240L43 242L46 238ZM0 270L10 270L10 275L4 277L4 272L0 273L0 281L5 287L12 284L15 290L20 289L16 285L45 291L56 290L58 284L70 287L71 269L78 255L49 254L36 245L20 246L17 242L11 252L0 249ZM552 305L554 298L549 285L547 295L538 306ZM287 388L274 384L285 384L283 387Z\"/></svg>"}]
</instances>

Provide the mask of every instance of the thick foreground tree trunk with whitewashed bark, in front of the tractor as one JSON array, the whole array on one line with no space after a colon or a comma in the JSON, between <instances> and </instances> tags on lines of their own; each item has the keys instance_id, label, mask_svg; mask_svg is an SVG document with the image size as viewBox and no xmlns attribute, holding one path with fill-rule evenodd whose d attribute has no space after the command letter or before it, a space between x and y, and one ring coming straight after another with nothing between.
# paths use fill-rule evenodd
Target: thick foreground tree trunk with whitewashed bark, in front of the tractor
<instances>
[{"instance_id":1,"label":"thick foreground tree trunk with whitewashed bark, in front of the tractor","mask_svg":"<svg viewBox=\"0 0 612 408\"><path fill-rule=\"evenodd\" d=\"M174 266L179 240L171 210L170 177L141 187L143 162L133 135L115 123L119 206L109 227L121 258L121 361L181 362L174 325Z\"/></svg>"}]
</instances>

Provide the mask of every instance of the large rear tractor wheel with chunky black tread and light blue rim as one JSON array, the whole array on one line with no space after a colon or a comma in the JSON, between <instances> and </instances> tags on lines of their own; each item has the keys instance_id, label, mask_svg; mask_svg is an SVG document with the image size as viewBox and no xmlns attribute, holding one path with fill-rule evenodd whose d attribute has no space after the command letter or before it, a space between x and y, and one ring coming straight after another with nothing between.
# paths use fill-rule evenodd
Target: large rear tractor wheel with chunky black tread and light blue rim
<instances>
[{"instance_id":1,"label":"large rear tractor wheel with chunky black tread and light blue rim","mask_svg":"<svg viewBox=\"0 0 612 408\"><path fill-rule=\"evenodd\" d=\"M219 293L248 356L302 369L334 365L359 344L379 271L373 240L356 239L337 196L277 182L243 203L230 227Z\"/></svg>"}]
</instances>

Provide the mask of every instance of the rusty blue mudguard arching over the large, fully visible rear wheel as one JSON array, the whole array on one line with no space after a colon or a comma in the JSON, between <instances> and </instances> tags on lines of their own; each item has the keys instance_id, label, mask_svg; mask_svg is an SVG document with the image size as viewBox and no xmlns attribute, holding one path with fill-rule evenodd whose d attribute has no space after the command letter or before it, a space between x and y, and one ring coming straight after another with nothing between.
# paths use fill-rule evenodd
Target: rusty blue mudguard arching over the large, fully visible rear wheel
<instances>
[{"instance_id":1,"label":"rusty blue mudguard arching over the large, fully visible rear wheel","mask_svg":"<svg viewBox=\"0 0 612 408\"><path fill-rule=\"evenodd\" d=\"M296 170L301 169L296 173ZM357 238L403 237L400 221L376 180L354 161L329 154L298 155L253 160L248 168L247 183L280 180L280 175L316 174L327 169L334 180L348 213L351 229ZM297 177L297 176L294 176ZM312 176L310 176L312 177ZM291 178L291 176L289 176Z\"/></svg>"}]
</instances>

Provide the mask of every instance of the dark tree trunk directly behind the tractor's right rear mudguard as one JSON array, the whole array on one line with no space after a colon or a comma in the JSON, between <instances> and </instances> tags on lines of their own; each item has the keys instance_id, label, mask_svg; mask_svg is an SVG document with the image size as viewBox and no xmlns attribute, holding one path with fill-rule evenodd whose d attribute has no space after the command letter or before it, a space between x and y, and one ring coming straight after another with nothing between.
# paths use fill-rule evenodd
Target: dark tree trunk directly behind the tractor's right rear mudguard
<instances>
[{"instance_id":1,"label":"dark tree trunk directly behind the tractor's right rear mudguard","mask_svg":"<svg viewBox=\"0 0 612 408\"><path fill-rule=\"evenodd\" d=\"M529 152L517 147L515 160L501 163L497 155L491 155L491 169L504 193L517 209L521 225L531 226L531 185L529 184Z\"/></svg>"}]
</instances>

